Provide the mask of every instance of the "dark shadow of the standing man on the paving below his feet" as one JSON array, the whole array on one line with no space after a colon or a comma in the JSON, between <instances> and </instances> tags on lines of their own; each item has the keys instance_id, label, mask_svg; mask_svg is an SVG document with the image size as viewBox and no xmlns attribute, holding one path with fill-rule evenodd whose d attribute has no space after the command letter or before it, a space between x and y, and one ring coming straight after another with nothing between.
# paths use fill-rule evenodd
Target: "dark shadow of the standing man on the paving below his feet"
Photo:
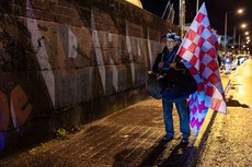
<instances>
[{"instance_id":1,"label":"dark shadow of the standing man on the paving below his feet","mask_svg":"<svg viewBox=\"0 0 252 167\"><path fill-rule=\"evenodd\" d=\"M114 156L113 167L183 167L187 166L188 157L196 154L195 146L187 146L177 143L174 147L169 145L170 142L160 141L158 145L151 146L149 150L144 148L126 148ZM134 153L135 152L135 153ZM134 153L134 154L133 154ZM142 155L144 159L139 159Z\"/></svg>"}]
</instances>

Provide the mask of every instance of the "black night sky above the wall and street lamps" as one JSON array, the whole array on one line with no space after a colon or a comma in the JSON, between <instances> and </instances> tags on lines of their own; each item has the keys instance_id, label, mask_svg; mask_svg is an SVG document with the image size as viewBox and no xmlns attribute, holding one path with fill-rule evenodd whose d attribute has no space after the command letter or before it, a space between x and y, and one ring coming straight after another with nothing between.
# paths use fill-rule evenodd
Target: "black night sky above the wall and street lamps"
<instances>
[{"instance_id":1,"label":"black night sky above the wall and street lamps","mask_svg":"<svg viewBox=\"0 0 252 167\"><path fill-rule=\"evenodd\" d=\"M141 0L145 10L152 12L159 16L169 0ZM171 0L174 3L175 24L179 24L179 1ZM228 35L232 36L233 26L237 27L237 34L244 34L244 29L240 28L241 23L247 23L250 34L252 34L252 0L199 0L201 4L205 2L208 12L211 28L217 29L217 33L224 35L225 33L225 13L226 11L236 11L239 8L244 9L243 15L238 15L234 12L228 13ZM185 0L186 3L186 23L191 23L196 14L196 0ZM237 35L238 36L238 35Z\"/></svg>"}]
</instances>

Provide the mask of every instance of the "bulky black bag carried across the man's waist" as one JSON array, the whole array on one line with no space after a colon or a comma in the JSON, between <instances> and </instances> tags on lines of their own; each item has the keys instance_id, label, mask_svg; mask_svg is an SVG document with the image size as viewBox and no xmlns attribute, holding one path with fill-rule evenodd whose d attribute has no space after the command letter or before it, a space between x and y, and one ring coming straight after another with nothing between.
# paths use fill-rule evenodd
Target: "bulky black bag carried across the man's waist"
<instances>
[{"instance_id":1,"label":"bulky black bag carried across the man's waist","mask_svg":"<svg viewBox=\"0 0 252 167\"><path fill-rule=\"evenodd\" d=\"M148 74L146 90L156 99L163 98L173 103L196 92L197 83L187 69L169 70L162 75Z\"/></svg>"}]
</instances>

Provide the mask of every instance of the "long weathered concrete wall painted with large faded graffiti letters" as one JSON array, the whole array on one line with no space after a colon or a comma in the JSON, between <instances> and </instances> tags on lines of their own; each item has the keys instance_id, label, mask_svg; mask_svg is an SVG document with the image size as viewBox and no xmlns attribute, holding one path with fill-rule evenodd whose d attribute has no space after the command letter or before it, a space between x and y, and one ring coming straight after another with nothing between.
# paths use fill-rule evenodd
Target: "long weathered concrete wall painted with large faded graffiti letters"
<instances>
[{"instance_id":1,"label":"long weathered concrete wall painted with large faded graffiti letters","mask_svg":"<svg viewBox=\"0 0 252 167\"><path fill-rule=\"evenodd\" d=\"M122 0L1 0L0 150L145 98L168 29Z\"/></svg>"}]
</instances>

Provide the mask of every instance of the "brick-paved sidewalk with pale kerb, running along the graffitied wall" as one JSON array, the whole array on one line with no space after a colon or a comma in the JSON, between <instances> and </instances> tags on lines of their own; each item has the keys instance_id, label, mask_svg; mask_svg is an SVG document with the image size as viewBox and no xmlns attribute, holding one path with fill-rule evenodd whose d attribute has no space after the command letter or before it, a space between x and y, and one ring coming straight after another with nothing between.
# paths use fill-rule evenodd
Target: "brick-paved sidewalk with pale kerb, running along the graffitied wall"
<instances>
[{"instance_id":1,"label":"brick-paved sidewalk with pale kerb, running along the graffitied wall","mask_svg":"<svg viewBox=\"0 0 252 167\"><path fill-rule=\"evenodd\" d=\"M221 74L224 88L229 76ZM123 167L190 166L198 157L213 117L209 110L197 138L181 147L179 117L173 107L175 138L161 142L164 135L161 100L151 97L87 126L67 140L53 141L16 156L2 159L5 167Z\"/></svg>"}]
</instances>

